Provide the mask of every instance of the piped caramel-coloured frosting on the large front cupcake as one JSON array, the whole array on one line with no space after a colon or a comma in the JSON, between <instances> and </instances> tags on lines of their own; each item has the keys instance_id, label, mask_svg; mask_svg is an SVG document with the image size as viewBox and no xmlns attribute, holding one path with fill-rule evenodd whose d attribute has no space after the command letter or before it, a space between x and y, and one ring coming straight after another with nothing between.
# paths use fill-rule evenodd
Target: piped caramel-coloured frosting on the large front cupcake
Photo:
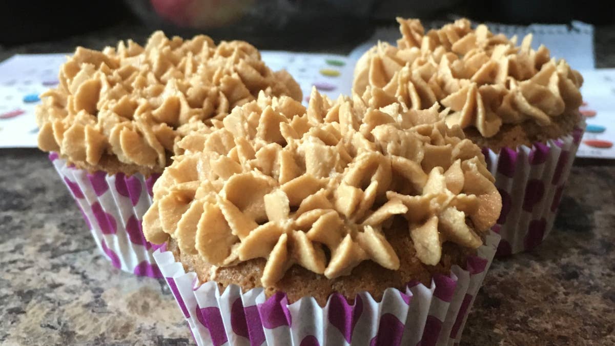
<instances>
[{"instance_id":1,"label":"piped caramel-coloured frosting on the large front cupcake","mask_svg":"<svg viewBox=\"0 0 615 346\"><path fill-rule=\"evenodd\" d=\"M292 265L327 278L363 260L396 270L395 215L424 264L440 262L445 241L476 248L501 198L480 149L437 108L377 88L335 103L314 90L307 109L261 93L181 140L145 236L218 267L265 258L264 287Z\"/></svg>"}]
</instances>

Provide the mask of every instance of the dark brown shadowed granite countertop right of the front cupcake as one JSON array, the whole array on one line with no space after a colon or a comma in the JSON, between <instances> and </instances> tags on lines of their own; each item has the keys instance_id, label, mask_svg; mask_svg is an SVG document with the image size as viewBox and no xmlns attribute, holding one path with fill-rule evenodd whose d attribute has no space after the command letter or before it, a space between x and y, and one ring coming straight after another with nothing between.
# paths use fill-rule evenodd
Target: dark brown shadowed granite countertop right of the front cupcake
<instances>
[{"instance_id":1,"label":"dark brown shadowed granite countertop right of the front cupcake","mask_svg":"<svg viewBox=\"0 0 615 346\"><path fill-rule=\"evenodd\" d=\"M555 227L491 266L462 345L615 345L615 166L577 161Z\"/></svg>"}]
</instances>

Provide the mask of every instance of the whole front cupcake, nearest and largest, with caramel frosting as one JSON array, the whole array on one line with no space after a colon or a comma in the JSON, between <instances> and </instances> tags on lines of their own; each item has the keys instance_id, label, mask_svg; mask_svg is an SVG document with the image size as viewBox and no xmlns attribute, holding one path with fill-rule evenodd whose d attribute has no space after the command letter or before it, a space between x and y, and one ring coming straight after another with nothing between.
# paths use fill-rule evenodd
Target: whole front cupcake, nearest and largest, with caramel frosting
<instances>
[{"instance_id":1,"label":"whole front cupcake, nearest and largest, with caramel frosting","mask_svg":"<svg viewBox=\"0 0 615 346\"><path fill-rule=\"evenodd\" d=\"M197 344L459 341L501 198L438 105L261 93L178 147L143 231Z\"/></svg>"}]
</instances>

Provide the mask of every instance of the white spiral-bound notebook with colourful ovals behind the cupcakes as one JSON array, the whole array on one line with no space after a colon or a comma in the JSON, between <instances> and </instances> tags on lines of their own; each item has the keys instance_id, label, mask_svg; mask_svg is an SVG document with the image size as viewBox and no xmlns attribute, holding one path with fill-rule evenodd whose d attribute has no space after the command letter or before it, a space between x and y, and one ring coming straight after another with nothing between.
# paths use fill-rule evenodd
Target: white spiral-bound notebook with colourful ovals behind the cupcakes
<instances>
[{"instance_id":1,"label":"white spiral-bound notebook with colourful ovals behind the cupcakes","mask_svg":"<svg viewBox=\"0 0 615 346\"><path fill-rule=\"evenodd\" d=\"M593 26L580 22L571 25L490 25L495 32L522 38L533 33L533 44L548 46L552 55L566 58L584 75L582 94L587 104L582 111L588 131L577 156L615 158L615 69L594 70ZM352 70L360 55L378 40L394 42L397 28L377 30L372 39L350 55L261 51L272 70L285 69L299 82L307 105L312 86L336 99L350 94ZM38 95L57 84L57 71L67 54L15 55L0 63L0 148L36 147L38 129L34 107ZM612 129L613 128L613 129Z\"/></svg>"}]
</instances>

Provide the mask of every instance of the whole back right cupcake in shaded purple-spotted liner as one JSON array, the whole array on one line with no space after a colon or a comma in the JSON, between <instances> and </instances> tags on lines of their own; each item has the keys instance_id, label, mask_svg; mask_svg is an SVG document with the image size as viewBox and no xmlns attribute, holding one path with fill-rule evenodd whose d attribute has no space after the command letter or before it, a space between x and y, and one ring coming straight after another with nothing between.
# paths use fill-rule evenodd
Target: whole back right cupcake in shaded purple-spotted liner
<instances>
[{"instance_id":1,"label":"whole back right cupcake in shaded purple-spotted liner","mask_svg":"<svg viewBox=\"0 0 615 346\"><path fill-rule=\"evenodd\" d=\"M551 230L585 123L579 113L581 74L549 50L517 38L472 29L466 19L425 33L419 20L398 18L397 46L380 42L357 62L353 90L380 87L423 109L448 109L483 150L502 195L493 230L498 255L533 249Z\"/></svg>"}]
</instances>

